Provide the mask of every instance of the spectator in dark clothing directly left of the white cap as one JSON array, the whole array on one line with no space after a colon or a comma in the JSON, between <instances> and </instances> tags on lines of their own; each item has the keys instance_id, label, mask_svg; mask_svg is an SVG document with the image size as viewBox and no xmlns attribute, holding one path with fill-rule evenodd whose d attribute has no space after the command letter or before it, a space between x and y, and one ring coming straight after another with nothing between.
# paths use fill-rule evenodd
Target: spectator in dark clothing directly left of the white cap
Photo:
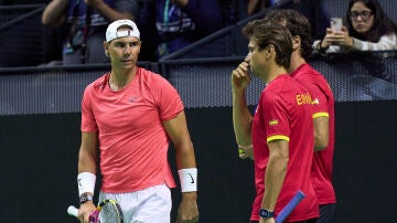
<instances>
[{"instance_id":1,"label":"spectator in dark clothing directly left of the white cap","mask_svg":"<svg viewBox=\"0 0 397 223\"><path fill-rule=\"evenodd\" d=\"M118 19L136 20L136 0L53 0L45 8L42 23L52 28L66 24L62 63L103 63L104 33L109 22ZM65 23L64 23L65 22Z\"/></svg>"}]
</instances>

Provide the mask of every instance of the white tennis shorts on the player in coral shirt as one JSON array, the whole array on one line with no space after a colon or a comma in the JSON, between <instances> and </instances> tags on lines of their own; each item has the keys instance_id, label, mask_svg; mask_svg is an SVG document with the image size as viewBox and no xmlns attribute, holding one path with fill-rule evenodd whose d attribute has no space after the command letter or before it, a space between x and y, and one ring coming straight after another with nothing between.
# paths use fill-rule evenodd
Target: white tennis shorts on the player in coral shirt
<instances>
[{"instance_id":1,"label":"white tennis shorts on the player in coral shirt","mask_svg":"<svg viewBox=\"0 0 397 223\"><path fill-rule=\"evenodd\" d=\"M125 223L170 223L171 191L165 185L154 185L130 193L99 193L99 201L116 200Z\"/></svg>"}]
</instances>

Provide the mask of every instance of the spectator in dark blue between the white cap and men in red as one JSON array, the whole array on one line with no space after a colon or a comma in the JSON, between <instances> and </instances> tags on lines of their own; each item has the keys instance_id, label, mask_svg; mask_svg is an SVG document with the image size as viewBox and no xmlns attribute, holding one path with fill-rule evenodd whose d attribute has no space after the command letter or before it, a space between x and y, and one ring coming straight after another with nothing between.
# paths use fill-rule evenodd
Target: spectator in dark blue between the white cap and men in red
<instances>
[{"instance_id":1,"label":"spectator in dark blue between the white cap and men in red","mask_svg":"<svg viewBox=\"0 0 397 223\"><path fill-rule=\"evenodd\" d=\"M173 53L222 28L217 0L158 0L158 57Z\"/></svg>"}]
</instances>

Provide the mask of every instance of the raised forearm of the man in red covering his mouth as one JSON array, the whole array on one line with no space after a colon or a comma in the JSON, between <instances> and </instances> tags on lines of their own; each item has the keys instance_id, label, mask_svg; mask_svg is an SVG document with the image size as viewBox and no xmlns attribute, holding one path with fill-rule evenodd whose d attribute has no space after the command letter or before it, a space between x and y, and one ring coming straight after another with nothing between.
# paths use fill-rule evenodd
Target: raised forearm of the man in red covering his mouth
<instances>
[{"instance_id":1,"label":"raised forearm of the man in red covering his mouth","mask_svg":"<svg viewBox=\"0 0 397 223\"><path fill-rule=\"evenodd\" d=\"M245 92L233 93L233 127L238 145L251 145L251 123Z\"/></svg>"}]
</instances>

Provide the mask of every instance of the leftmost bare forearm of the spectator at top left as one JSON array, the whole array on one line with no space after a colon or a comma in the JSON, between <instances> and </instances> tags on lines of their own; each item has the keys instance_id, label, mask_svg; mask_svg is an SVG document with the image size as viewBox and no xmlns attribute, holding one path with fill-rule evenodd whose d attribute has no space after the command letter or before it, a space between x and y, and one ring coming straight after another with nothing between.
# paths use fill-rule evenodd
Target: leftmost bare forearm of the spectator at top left
<instances>
[{"instance_id":1,"label":"leftmost bare forearm of the spectator at top left","mask_svg":"<svg viewBox=\"0 0 397 223\"><path fill-rule=\"evenodd\" d=\"M49 26L57 26L61 24L67 6L67 0L51 1L43 11L42 23Z\"/></svg>"}]
</instances>

